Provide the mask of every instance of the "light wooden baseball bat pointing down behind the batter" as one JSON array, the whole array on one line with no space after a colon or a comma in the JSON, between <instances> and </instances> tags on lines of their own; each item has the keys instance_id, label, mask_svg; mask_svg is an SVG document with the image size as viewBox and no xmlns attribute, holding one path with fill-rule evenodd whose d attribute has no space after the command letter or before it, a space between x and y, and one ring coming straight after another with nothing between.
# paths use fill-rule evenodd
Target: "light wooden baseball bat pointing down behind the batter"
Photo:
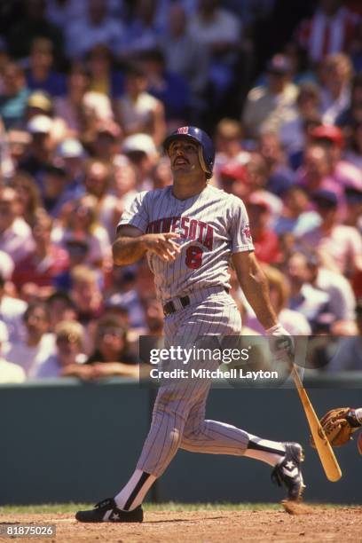
<instances>
[{"instance_id":1,"label":"light wooden baseball bat pointing down behind the batter","mask_svg":"<svg viewBox=\"0 0 362 543\"><path fill-rule=\"evenodd\" d=\"M301 398L305 416L307 417L307 421L311 429L311 435L319 454L319 460L323 466L323 469L325 470L327 479L335 483L342 477L341 468L339 467L338 461L335 458L331 444L327 440L325 431L320 425L319 418L314 411L313 405L311 405L311 400L303 387L303 383L296 370L295 364L292 366L292 375L296 390Z\"/></svg>"}]
</instances>

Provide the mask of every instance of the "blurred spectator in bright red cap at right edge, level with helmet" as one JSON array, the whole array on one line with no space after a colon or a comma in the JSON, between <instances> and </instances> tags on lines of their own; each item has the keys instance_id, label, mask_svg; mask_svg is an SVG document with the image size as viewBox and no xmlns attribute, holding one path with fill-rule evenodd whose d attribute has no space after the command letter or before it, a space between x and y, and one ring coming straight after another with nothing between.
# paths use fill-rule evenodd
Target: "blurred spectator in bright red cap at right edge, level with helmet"
<instances>
[{"instance_id":1,"label":"blurred spectator in bright red cap at right edge, level with helmet","mask_svg":"<svg viewBox=\"0 0 362 543\"><path fill-rule=\"evenodd\" d=\"M332 125L320 125L310 131L312 141L326 147L329 158L330 175L342 188L362 189L362 172L349 161L342 159L344 139L342 130Z\"/></svg>"}]
</instances>

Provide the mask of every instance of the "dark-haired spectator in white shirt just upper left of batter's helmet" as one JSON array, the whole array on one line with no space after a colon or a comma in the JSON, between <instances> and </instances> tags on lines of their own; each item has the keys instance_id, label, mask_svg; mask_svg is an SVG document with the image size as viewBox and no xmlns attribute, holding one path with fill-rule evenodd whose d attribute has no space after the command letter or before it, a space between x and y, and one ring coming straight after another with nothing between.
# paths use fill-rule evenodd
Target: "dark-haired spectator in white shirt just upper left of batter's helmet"
<instances>
[{"instance_id":1,"label":"dark-haired spectator in white shirt just upper left of batter's helmet","mask_svg":"<svg viewBox=\"0 0 362 543\"><path fill-rule=\"evenodd\" d=\"M149 134L159 146L166 134L164 107L146 88L145 70L139 65L130 65L125 73L124 95L115 104L117 120L126 137Z\"/></svg>"}]
</instances>

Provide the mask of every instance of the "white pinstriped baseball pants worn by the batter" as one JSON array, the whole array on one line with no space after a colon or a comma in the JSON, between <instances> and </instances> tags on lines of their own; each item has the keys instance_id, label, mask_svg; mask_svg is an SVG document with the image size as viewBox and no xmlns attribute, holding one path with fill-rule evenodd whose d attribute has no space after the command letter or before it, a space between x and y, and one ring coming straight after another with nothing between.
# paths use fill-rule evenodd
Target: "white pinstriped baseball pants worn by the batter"
<instances>
[{"instance_id":1,"label":"white pinstriped baseball pants worn by the batter","mask_svg":"<svg viewBox=\"0 0 362 543\"><path fill-rule=\"evenodd\" d=\"M240 312L226 292L205 295L201 302L172 313L165 319L166 345L189 348L200 338L239 335ZM192 361L193 368L215 370L219 362ZM178 366L179 367L179 366ZM162 385L153 407L153 419L137 468L161 476L178 448L193 453L242 455L248 446L247 432L230 424L206 421L209 379L169 382Z\"/></svg>"}]
</instances>

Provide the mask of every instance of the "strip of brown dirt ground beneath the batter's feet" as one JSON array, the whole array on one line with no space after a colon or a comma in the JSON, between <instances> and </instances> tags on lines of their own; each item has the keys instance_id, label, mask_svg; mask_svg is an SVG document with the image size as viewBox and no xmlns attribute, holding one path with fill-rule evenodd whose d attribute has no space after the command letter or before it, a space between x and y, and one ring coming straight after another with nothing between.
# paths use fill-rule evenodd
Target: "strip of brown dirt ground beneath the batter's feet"
<instances>
[{"instance_id":1,"label":"strip of brown dirt ground beneath the batter's feet","mask_svg":"<svg viewBox=\"0 0 362 543\"><path fill-rule=\"evenodd\" d=\"M314 506L303 514L280 511L185 511L146 512L142 524L82 524L69 514L0 515L4 523L55 523L57 535L33 541L52 543L82 542L197 542L278 541L289 543L331 542L362 543L362 507L323 508ZM0 541L30 540L4 538Z\"/></svg>"}]
</instances>

